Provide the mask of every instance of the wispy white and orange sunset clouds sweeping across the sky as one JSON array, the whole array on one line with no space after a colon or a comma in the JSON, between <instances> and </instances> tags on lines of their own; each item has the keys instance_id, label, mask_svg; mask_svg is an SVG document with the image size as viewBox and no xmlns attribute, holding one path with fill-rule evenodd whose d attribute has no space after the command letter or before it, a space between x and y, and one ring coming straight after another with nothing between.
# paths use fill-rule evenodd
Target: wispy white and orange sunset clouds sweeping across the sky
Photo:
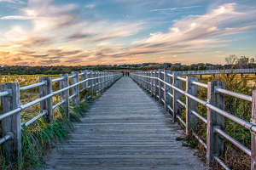
<instances>
[{"instance_id":1,"label":"wispy white and orange sunset clouds sweeping across the sky","mask_svg":"<svg viewBox=\"0 0 256 170\"><path fill-rule=\"evenodd\" d=\"M195 7L198 6L190 8ZM148 28L145 24L150 21L97 18L96 11L80 11L74 3L55 7L50 0L29 0L28 6L19 11L23 14L18 16L35 20L29 20L31 26L28 28L13 26L3 32L0 39L0 44L3 43L0 45L1 63L13 59L14 64L30 65L113 65L148 58L163 62L181 60L180 56L198 55L201 50L224 48L233 40L224 40L223 36L256 27L256 11L238 10L236 3L223 4L206 14L173 20L168 30L155 31L143 38L136 34ZM241 26L239 23L243 20L248 22ZM129 39L124 37L131 35L136 35L131 38L137 39L123 41Z\"/></svg>"}]
</instances>

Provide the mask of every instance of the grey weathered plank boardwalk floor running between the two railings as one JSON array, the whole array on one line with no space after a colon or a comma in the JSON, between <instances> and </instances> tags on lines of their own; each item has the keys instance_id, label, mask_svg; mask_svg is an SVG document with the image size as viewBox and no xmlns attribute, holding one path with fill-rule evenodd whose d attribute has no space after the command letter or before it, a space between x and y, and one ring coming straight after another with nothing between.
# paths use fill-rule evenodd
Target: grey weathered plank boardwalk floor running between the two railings
<instances>
[{"instance_id":1,"label":"grey weathered plank boardwalk floor running between the two railings","mask_svg":"<svg viewBox=\"0 0 256 170\"><path fill-rule=\"evenodd\" d=\"M153 98L122 77L52 151L48 169L207 169L183 147L183 129Z\"/></svg>"}]
</instances>

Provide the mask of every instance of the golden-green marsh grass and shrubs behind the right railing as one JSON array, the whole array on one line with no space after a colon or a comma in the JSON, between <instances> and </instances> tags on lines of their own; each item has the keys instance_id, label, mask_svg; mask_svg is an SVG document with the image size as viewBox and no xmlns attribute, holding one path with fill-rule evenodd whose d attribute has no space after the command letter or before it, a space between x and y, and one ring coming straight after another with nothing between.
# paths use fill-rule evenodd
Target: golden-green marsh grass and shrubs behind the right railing
<instances>
[{"instance_id":1,"label":"golden-green marsh grass and shrubs behind the right railing","mask_svg":"<svg viewBox=\"0 0 256 170\"><path fill-rule=\"evenodd\" d=\"M244 75L241 79L241 74L237 74L234 71L230 71L229 77L227 74L218 75L213 79L212 76L203 76L199 82L206 83L209 81L224 81L225 89L252 96L252 92L256 89L255 76ZM185 82L183 82L183 90L185 90ZM252 102L246 101L244 99L238 99L230 95L225 95L225 105L224 111L241 118L244 121L250 122L252 116ZM198 98L207 101L207 88L198 87ZM186 103L186 98L183 96L183 103ZM207 118L207 107L204 105L198 105L198 113L201 116ZM186 110L183 107L182 119L185 121ZM180 123L182 124L182 123ZM183 126L183 125L182 125ZM231 121L228 118L224 119L224 131L228 133L232 138L239 141L241 144L245 145L248 149L251 149L251 133L247 128L242 127L236 122ZM198 119L196 134L206 143L207 142L207 124ZM190 135L189 138L198 143L201 150L201 154L205 155L205 148ZM230 143L229 140L224 139L224 154L220 158L232 169L250 169L251 158L247 156L242 150L236 147L235 144ZM205 160L205 159L204 159ZM212 169L222 169L220 165L212 167Z\"/></svg>"}]
</instances>

